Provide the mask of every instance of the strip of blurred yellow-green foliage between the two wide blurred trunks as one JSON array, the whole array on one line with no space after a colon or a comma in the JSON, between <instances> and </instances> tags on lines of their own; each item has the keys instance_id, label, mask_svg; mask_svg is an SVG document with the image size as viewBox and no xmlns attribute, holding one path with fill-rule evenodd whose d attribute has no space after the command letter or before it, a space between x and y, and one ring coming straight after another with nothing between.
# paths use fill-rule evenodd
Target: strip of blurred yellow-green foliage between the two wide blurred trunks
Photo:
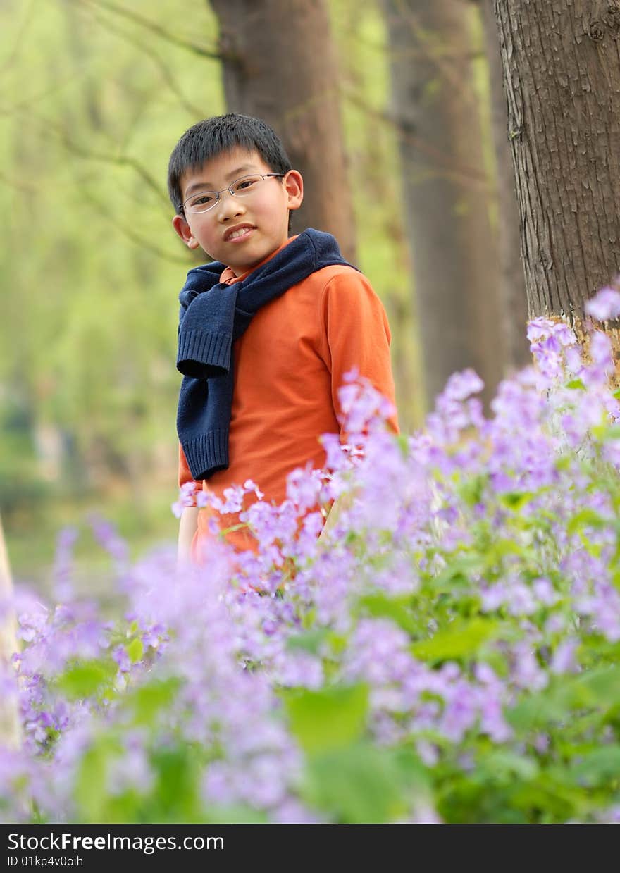
<instances>
[{"instance_id":1,"label":"strip of blurred yellow-green foliage between the two wide blurred trunks","mask_svg":"<svg viewBox=\"0 0 620 873\"><path fill-rule=\"evenodd\" d=\"M409 287L409 256L403 228L402 184L396 127L389 100L387 33L375 0L330 0L339 58L348 170L356 217L357 264L386 307L398 417L403 430L421 426L416 313Z\"/></svg>"}]
</instances>

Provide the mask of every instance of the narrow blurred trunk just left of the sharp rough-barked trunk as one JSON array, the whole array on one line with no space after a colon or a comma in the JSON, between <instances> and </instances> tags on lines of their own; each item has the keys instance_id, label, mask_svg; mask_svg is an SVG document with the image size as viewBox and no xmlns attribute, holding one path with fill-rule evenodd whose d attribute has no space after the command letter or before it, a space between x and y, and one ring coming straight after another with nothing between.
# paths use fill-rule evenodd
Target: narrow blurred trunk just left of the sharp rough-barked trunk
<instances>
[{"instance_id":1,"label":"narrow blurred trunk just left of the sharp rough-barked trunk","mask_svg":"<svg viewBox=\"0 0 620 873\"><path fill-rule=\"evenodd\" d=\"M532 355L527 342L527 295L520 253L519 206L514 188L513 158L508 142L508 113L493 0L481 0L489 65L491 132L495 155L498 203L499 301L506 364L515 370L527 366Z\"/></svg>"}]
</instances>

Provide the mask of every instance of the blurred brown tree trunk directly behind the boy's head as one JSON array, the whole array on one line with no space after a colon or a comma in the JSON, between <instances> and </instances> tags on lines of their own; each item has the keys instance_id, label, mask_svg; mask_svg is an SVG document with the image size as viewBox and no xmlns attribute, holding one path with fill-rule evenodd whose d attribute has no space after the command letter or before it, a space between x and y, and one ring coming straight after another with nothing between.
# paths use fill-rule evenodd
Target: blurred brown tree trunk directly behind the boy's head
<instances>
[{"instance_id":1,"label":"blurred brown tree trunk directly behind the boy's head","mask_svg":"<svg viewBox=\"0 0 620 873\"><path fill-rule=\"evenodd\" d=\"M211 0L230 112L255 115L282 138L304 177L292 230L327 230L349 260L355 228L335 52L324 0Z\"/></svg>"}]
</instances>

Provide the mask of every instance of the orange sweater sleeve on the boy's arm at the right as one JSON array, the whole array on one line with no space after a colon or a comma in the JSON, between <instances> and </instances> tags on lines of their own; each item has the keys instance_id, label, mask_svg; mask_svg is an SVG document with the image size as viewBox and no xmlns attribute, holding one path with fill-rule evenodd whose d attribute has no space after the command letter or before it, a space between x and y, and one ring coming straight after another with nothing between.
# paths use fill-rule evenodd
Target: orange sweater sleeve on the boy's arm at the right
<instances>
[{"instance_id":1,"label":"orange sweater sleeve on the boy's arm at the right","mask_svg":"<svg viewBox=\"0 0 620 873\"><path fill-rule=\"evenodd\" d=\"M338 389L344 375L357 368L396 410L394 376L389 356L388 316L369 280L355 270L330 278L321 299L323 359L331 374L332 402L341 416ZM398 433L396 411L388 419Z\"/></svg>"}]
</instances>

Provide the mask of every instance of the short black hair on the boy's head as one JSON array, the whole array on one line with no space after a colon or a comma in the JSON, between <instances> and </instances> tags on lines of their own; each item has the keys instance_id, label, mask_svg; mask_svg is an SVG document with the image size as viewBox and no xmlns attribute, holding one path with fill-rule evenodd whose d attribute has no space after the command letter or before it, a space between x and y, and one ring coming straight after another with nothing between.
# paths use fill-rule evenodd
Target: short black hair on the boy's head
<instances>
[{"instance_id":1,"label":"short black hair on the boy's head","mask_svg":"<svg viewBox=\"0 0 620 873\"><path fill-rule=\"evenodd\" d=\"M266 121L251 115L227 113L198 121L176 143L168 165L168 193L176 212L183 215L183 174L233 148L257 151L272 173L287 173L291 162L278 134Z\"/></svg>"}]
</instances>

